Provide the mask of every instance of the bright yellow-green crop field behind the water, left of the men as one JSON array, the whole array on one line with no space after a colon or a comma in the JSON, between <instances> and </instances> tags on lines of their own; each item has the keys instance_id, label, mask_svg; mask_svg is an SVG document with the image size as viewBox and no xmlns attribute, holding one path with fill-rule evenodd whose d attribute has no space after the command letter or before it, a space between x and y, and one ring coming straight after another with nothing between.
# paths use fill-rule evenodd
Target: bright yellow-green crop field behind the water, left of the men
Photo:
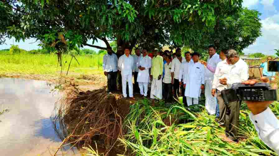
<instances>
[{"instance_id":1,"label":"bright yellow-green crop field behind the water, left of the men","mask_svg":"<svg viewBox=\"0 0 279 156\"><path fill-rule=\"evenodd\" d=\"M103 55L76 56L72 60L69 74L92 74L102 71ZM71 56L63 55L63 73L67 72ZM54 54L0 54L0 74L50 74L59 75L57 56ZM99 68L98 68L99 67Z\"/></svg>"}]
</instances>

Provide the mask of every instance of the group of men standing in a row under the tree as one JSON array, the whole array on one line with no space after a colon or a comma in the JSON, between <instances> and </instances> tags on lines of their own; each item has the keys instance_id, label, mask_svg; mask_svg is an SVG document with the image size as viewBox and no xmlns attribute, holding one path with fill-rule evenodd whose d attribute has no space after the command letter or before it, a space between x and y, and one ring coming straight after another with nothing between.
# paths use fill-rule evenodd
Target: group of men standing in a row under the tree
<instances>
[{"instance_id":1,"label":"group of men standing in a row under the tree","mask_svg":"<svg viewBox=\"0 0 279 156\"><path fill-rule=\"evenodd\" d=\"M147 97L148 84L151 82L150 99L171 101L173 97L179 96L181 90L185 105L197 105L201 90L205 89L208 114L216 114L215 121L226 127L228 137L237 141L241 101L225 104L221 95L222 90L229 89L233 83L246 81L249 77L248 65L239 58L237 51L223 49L218 55L214 45L210 45L207 62L200 61L197 52L186 52L185 57L182 57L180 48L177 48L173 55L164 51L162 56L158 55L158 49L152 51L152 55L148 54L146 49L141 53L139 49L135 49L135 55L132 56L131 50L125 48L124 55L119 57L111 48L108 48L107 52L103 59L103 69L107 76L108 93L116 90L116 86L118 88L117 72L121 73L125 98L128 82L129 97L135 99L133 75L135 91L139 91L143 97Z\"/></svg>"}]
</instances>

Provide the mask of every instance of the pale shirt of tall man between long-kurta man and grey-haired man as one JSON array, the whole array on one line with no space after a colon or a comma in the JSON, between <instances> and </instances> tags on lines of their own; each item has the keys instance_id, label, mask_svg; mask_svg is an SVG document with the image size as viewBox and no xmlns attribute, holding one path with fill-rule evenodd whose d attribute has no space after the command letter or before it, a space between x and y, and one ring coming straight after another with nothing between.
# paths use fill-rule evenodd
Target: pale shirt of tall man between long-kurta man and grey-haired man
<instances>
[{"instance_id":1,"label":"pale shirt of tall man between long-kurta man and grey-haired man","mask_svg":"<svg viewBox=\"0 0 279 156\"><path fill-rule=\"evenodd\" d=\"M211 58L210 56L207 59L207 65L216 69L217 64L222 61L217 53L215 53ZM205 69L205 80L212 80L214 78L214 73L212 73L209 69Z\"/></svg>"}]
</instances>

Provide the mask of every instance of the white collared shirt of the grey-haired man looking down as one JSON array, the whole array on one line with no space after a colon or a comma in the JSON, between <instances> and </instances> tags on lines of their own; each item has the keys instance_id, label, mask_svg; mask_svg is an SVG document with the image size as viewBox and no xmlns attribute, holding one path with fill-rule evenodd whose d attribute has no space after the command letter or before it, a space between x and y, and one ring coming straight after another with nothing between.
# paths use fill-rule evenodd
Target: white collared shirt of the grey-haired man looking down
<instances>
[{"instance_id":1,"label":"white collared shirt of the grey-haired man looking down","mask_svg":"<svg viewBox=\"0 0 279 156\"><path fill-rule=\"evenodd\" d=\"M240 83L248 80L248 78L248 65L244 60L239 58L234 65L229 65L229 75L227 78L228 88L231 88L233 83Z\"/></svg>"}]
</instances>

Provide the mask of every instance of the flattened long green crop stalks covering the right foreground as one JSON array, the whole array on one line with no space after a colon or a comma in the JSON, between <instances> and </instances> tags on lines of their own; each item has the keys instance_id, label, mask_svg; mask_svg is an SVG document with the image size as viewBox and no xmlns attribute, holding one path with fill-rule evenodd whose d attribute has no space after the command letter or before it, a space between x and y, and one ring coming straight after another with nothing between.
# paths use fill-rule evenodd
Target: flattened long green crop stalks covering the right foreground
<instances>
[{"instance_id":1,"label":"flattened long green crop stalks covering the right foreground","mask_svg":"<svg viewBox=\"0 0 279 156\"><path fill-rule=\"evenodd\" d=\"M279 115L278 104L278 102L274 102L270 106L277 117ZM137 105L134 107L139 107ZM187 121L185 123L167 125L163 117L172 112L174 108L176 108L175 111L177 112L182 111L187 114L192 122ZM149 114L152 114L152 118L145 116L140 118L141 115L139 114L143 113L146 107L139 107L138 109L141 110L139 114L130 115L130 118L126 118L128 121L125 122L129 123L127 126L129 131L126 136L119 138L119 140L136 156L277 155L258 138L253 123L248 117L250 111L246 108L246 104L243 103L243 110L240 113L240 137L238 143L226 140L225 128L220 127L214 121L215 117L208 115L205 110L193 113L194 117L192 117L192 112L182 106L172 106L169 108L168 113L163 112L162 109L153 108L149 112ZM138 116L139 120L132 118L132 116Z\"/></svg>"}]
</instances>

